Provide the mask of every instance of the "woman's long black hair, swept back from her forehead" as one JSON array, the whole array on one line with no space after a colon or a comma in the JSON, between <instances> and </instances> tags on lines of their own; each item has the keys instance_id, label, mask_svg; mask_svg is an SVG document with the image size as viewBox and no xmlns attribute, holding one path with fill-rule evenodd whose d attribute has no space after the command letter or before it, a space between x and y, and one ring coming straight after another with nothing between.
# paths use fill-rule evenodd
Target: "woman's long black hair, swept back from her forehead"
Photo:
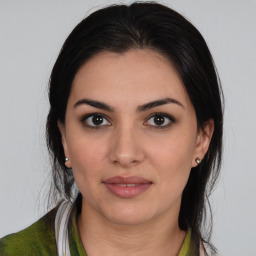
<instances>
[{"instance_id":1,"label":"woman's long black hair, swept back from her forehead","mask_svg":"<svg viewBox=\"0 0 256 256\"><path fill-rule=\"evenodd\" d=\"M208 197L221 166L222 90L211 53L199 31L174 10L154 2L100 9L82 20L66 39L49 82L47 143L52 156L52 198L57 193L68 199L72 197L74 177L65 167L57 121L65 123L67 101L76 73L97 53L123 53L129 49L152 49L169 59L195 108L198 128L203 129L209 119L214 121L209 150L201 163L191 170L179 215L182 230L190 227L198 239L208 242L211 222L206 228L208 233L203 229Z\"/></svg>"}]
</instances>

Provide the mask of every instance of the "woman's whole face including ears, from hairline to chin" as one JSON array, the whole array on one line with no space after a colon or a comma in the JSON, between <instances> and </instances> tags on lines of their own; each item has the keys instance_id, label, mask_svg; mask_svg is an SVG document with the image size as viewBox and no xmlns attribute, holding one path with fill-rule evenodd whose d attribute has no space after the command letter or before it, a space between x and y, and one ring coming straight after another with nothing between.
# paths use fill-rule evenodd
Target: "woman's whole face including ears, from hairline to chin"
<instances>
[{"instance_id":1,"label":"woman's whole face including ears, from hairline to chin","mask_svg":"<svg viewBox=\"0 0 256 256\"><path fill-rule=\"evenodd\" d=\"M178 218L212 126L209 136L198 131L181 79L152 50L103 52L86 62L59 123L84 209L124 225Z\"/></svg>"}]
</instances>

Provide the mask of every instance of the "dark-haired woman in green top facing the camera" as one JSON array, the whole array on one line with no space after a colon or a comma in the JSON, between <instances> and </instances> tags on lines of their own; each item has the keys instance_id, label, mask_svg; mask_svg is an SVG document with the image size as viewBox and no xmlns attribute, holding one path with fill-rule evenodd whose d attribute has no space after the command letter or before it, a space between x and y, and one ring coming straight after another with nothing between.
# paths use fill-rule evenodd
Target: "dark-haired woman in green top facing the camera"
<instances>
[{"instance_id":1,"label":"dark-haired woman in green top facing the camera","mask_svg":"<svg viewBox=\"0 0 256 256\"><path fill-rule=\"evenodd\" d=\"M67 200L1 239L1 255L215 253L202 230L221 88L192 24L156 3L96 11L65 41L49 100L53 196Z\"/></svg>"}]
</instances>

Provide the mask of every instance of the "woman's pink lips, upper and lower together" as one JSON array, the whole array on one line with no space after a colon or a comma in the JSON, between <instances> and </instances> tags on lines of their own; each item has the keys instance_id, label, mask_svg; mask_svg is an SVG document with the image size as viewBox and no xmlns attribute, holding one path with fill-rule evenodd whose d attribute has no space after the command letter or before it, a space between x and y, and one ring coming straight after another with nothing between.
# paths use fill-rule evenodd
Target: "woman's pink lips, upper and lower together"
<instances>
[{"instance_id":1,"label":"woman's pink lips, upper and lower together","mask_svg":"<svg viewBox=\"0 0 256 256\"><path fill-rule=\"evenodd\" d=\"M152 182L137 176L115 176L105 180L103 184L114 195L121 198L131 198L146 191Z\"/></svg>"}]
</instances>

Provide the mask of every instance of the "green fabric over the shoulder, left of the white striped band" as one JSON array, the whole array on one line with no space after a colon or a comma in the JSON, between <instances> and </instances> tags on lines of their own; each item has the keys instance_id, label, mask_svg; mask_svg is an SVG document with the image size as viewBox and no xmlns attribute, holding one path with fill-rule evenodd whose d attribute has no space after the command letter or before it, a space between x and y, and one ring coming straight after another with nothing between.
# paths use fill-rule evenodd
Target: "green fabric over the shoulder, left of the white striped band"
<instances>
[{"instance_id":1,"label":"green fabric over the shoulder, left of the white striped band","mask_svg":"<svg viewBox=\"0 0 256 256\"><path fill-rule=\"evenodd\" d=\"M0 239L0 256L56 255L56 211L57 207L28 228Z\"/></svg>"}]
</instances>

